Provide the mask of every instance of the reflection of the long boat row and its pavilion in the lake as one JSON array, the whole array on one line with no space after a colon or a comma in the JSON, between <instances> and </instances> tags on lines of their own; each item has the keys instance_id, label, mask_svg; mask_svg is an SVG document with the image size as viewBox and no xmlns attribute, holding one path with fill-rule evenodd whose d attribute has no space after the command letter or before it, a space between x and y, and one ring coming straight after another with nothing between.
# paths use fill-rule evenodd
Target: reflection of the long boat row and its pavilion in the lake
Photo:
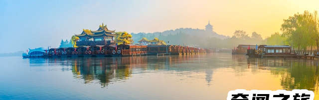
<instances>
[{"instance_id":1,"label":"reflection of the long boat row and its pavilion in the lake","mask_svg":"<svg viewBox=\"0 0 319 100\"><path fill-rule=\"evenodd\" d=\"M182 63L192 63L193 61L190 59L197 59L200 56L202 55L32 58L30 64L42 59L43 61L40 62L48 62L49 66L62 66L62 71L72 70L74 78L83 79L85 84L99 83L103 88L112 82L124 82L132 77L133 72L143 73L148 72L148 70L190 71L193 70L192 67L187 69L187 66L183 66ZM50 70L54 70L54 67L50 68ZM211 73L207 76L207 81L210 82L212 71L208 72Z\"/></svg>"}]
</instances>

